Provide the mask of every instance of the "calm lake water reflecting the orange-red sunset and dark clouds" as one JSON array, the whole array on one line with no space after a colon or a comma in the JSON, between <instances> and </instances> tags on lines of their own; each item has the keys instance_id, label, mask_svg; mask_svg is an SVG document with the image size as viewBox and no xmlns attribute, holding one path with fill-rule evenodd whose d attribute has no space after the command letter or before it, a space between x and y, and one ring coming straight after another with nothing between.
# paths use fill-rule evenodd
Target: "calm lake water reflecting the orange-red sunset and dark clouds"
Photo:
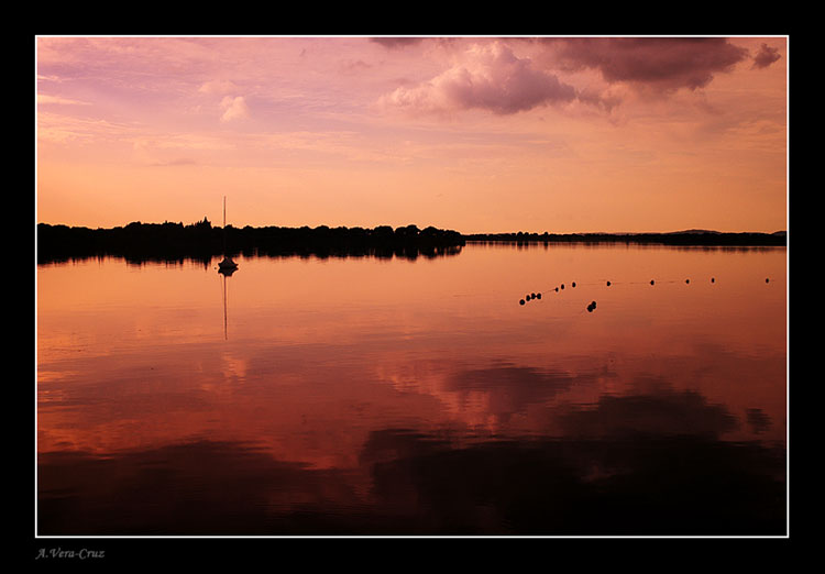
<instances>
[{"instance_id":1,"label":"calm lake water reflecting the orange-red sunset and dark clouds","mask_svg":"<svg viewBox=\"0 0 825 574\"><path fill-rule=\"evenodd\" d=\"M37 267L40 536L787 533L785 249L235 261Z\"/></svg>"}]
</instances>

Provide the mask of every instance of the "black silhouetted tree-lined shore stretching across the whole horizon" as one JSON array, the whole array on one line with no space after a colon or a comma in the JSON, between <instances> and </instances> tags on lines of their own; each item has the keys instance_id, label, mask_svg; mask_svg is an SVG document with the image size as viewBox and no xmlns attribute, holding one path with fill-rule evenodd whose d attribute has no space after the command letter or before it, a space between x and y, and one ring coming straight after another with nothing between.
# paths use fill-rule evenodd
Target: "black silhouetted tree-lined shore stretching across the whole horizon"
<instances>
[{"instance_id":1,"label":"black silhouetted tree-lined shore stretching across the whole horizon","mask_svg":"<svg viewBox=\"0 0 825 574\"><path fill-rule=\"evenodd\" d=\"M785 232L729 233L684 231L672 233L460 233L435 227L406 225L369 228L226 228L198 223L141 223L122 228L89 229L38 223L37 263L95 256L128 260L208 261L230 256L376 256L416 258L455 255L468 243L531 244L648 244L707 247L784 247ZM224 250L223 245L228 245Z\"/></svg>"}]
</instances>

